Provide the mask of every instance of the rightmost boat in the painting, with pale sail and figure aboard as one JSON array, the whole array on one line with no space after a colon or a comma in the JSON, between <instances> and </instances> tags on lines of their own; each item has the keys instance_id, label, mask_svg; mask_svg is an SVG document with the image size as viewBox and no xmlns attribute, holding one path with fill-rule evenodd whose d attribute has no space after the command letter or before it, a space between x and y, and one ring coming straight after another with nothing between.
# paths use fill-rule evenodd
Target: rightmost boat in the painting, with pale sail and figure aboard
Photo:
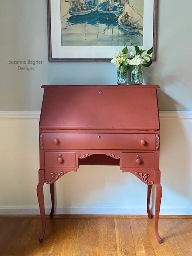
<instances>
[{"instance_id":1,"label":"rightmost boat in the painting, with pale sail and figure aboard","mask_svg":"<svg viewBox=\"0 0 192 256\"><path fill-rule=\"evenodd\" d=\"M127 34L139 34L142 26L139 21L142 19L142 15L139 14L129 0L124 0L123 14L118 18L118 25Z\"/></svg>"}]
</instances>

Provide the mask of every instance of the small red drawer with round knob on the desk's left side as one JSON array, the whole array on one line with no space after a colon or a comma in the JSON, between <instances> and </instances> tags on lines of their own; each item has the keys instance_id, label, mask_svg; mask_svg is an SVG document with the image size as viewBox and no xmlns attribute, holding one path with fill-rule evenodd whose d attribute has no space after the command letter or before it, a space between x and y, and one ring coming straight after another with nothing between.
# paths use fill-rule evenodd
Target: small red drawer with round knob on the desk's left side
<instances>
[{"instance_id":1,"label":"small red drawer with round knob on the desk's left side","mask_svg":"<svg viewBox=\"0 0 192 256\"><path fill-rule=\"evenodd\" d=\"M76 152L45 152L45 167L76 167Z\"/></svg>"}]
</instances>

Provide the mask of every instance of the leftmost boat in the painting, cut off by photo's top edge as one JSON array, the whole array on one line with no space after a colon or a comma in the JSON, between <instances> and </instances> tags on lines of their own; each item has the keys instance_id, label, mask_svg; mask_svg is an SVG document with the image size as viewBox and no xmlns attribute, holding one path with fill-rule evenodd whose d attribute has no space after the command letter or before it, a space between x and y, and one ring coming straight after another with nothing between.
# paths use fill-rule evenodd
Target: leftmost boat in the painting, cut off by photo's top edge
<instances>
[{"instance_id":1,"label":"leftmost boat in the painting, cut off by photo's top edge","mask_svg":"<svg viewBox=\"0 0 192 256\"><path fill-rule=\"evenodd\" d=\"M98 7L102 6L106 0L70 0L69 14L73 16L83 16L93 14L98 11Z\"/></svg>"}]
</instances>

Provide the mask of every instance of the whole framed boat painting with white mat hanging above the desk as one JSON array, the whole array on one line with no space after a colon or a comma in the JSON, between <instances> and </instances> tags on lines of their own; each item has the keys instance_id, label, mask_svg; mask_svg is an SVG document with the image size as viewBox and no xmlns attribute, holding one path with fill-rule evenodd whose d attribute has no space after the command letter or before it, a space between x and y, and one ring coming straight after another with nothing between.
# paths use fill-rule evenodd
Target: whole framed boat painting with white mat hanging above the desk
<instances>
[{"instance_id":1,"label":"whole framed boat painting with white mat hanging above the desk","mask_svg":"<svg viewBox=\"0 0 192 256\"><path fill-rule=\"evenodd\" d=\"M157 0L47 0L49 61L109 61L116 50L153 46Z\"/></svg>"}]
</instances>

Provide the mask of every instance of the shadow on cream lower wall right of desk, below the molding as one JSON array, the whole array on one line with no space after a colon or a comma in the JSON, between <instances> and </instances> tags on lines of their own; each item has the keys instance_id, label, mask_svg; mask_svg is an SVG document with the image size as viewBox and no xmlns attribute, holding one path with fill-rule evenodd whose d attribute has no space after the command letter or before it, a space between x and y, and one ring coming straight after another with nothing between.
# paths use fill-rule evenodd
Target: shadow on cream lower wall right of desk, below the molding
<instances>
[{"instance_id":1,"label":"shadow on cream lower wall right of desk, below the molding","mask_svg":"<svg viewBox=\"0 0 192 256\"><path fill-rule=\"evenodd\" d=\"M188 125L185 125L186 122L188 122ZM173 193L175 191L176 194L191 198L192 139L190 130L192 130L192 121L174 118L162 119L160 125L162 182Z\"/></svg>"}]
</instances>

